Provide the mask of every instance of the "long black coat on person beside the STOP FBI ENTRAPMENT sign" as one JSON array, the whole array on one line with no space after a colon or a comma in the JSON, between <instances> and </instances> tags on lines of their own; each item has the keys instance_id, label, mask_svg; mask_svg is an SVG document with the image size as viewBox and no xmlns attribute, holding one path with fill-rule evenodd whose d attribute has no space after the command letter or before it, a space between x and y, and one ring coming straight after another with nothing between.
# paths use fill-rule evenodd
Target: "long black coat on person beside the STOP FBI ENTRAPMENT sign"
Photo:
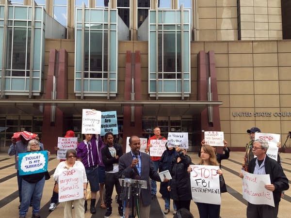
<instances>
[{"instance_id":1,"label":"long black coat on person beside the STOP FBI ENTRAPMENT sign","mask_svg":"<svg viewBox=\"0 0 291 218\"><path fill-rule=\"evenodd\" d=\"M178 157L181 158L180 162L177 162ZM168 185L171 187L171 198L174 201L189 201L192 199L190 173L187 172L191 162L190 156L184 156L183 153L179 151L178 156L176 156L171 163L169 171L172 180Z\"/></svg>"}]
</instances>

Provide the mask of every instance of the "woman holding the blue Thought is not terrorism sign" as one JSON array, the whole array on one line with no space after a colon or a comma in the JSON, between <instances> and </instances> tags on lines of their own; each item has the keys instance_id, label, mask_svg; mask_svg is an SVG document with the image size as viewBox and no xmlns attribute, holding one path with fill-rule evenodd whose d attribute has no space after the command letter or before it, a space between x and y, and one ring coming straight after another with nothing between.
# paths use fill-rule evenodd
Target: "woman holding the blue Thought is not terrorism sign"
<instances>
[{"instance_id":1,"label":"woman holding the blue Thought is not terrorism sign","mask_svg":"<svg viewBox=\"0 0 291 218\"><path fill-rule=\"evenodd\" d=\"M27 144L27 152L37 152L40 150L38 140L30 140ZM48 152L48 155L50 153ZM19 156L17 156L18 160ZM46 172L39 172L22 176L21 204L19 218L25 218L32 199L32 218L40 218L39 209L45 186Z\"/></svg>"}]
</instances>

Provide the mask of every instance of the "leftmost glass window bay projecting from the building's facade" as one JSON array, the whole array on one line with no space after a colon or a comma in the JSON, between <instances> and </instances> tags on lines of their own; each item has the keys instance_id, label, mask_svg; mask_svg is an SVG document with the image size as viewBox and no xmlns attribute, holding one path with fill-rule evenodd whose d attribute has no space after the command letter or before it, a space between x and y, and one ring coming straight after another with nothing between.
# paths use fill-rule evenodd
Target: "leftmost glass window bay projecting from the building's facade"
<instances>
[{"instance_id":1,"label":"leftmost glass window bay projecting from the building's facade","mask_svg":"<svg viewBox=\"0 0 291 218\"><path fill-rule=\"evenodd\" d=\"M0 69L5 71L3 74L0 72L0 88L8 95L27 95L30 91L39 95L44 63L45 11L41 7L35 7L32 27L32 7L9 6L4 50L3 10L4 6L0 6ZM4 59L2 54L5 54Z\"/></svg>"}]
</instances>

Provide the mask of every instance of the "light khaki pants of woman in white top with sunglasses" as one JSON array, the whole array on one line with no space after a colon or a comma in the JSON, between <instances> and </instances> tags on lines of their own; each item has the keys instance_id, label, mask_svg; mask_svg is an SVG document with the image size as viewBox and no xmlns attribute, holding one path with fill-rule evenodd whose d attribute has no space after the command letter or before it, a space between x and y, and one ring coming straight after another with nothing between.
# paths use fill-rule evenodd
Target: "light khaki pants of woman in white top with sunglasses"
<instances>
[{"instance_id":1,"label":"light khaki pants of woman in white top with sunglasses","mask_svg":"<svg viewBox=\"0 0 291 218\"><path fill-rule=\"evenodd\" d=\"M74 205L75 218L85 218L84 199L65 202L64 218L73 218L72 203Z\"/></svg>"}]
</instances>

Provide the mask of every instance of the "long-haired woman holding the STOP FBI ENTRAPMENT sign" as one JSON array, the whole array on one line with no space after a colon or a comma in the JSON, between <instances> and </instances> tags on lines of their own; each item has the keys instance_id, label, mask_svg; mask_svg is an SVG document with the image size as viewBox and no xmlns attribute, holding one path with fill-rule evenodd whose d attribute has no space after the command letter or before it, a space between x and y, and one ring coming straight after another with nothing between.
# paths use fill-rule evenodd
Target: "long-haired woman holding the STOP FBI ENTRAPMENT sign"
<instances>
[{"instance_id":1,"label":"long-haired woman holding the STOP FBI ENTRAPMENT sign","mask_svg":"<svg viewBox=\"0 0 291 218\"><path fill-rule=\"evenodd\" d=\"M200 165L210 165L210 166L219 166L219 163L216 159L216 155L214 149L210 145L202 145L200 152ZM224 185L222 179L222 171L219 169L217 171L219 174L219 181L221 182L220 187ZM219 204L211 204L211 203L200 203L197 202L197 207L199 211L200 218L219 218L220 214L220 205Z\"/></svg>"}]
</instances>

